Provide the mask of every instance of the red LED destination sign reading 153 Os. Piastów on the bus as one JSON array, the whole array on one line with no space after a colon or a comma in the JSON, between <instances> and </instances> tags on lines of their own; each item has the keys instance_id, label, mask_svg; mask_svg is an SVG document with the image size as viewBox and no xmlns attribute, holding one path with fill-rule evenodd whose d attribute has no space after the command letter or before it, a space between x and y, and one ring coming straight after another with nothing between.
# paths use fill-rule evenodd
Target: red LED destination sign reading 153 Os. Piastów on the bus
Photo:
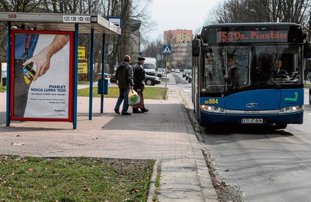
<instances>
[{"instance_id":1,"label":"red LED destination sign reading 153 Os. Piast\u00f3w on the bus","mask_svg":"<svg viewBox=\"0 0 311 202\"><path fill-rule=\"evenodd\" d=\"M287 42L288 31L217 31L217 43Z\"/></svg>"}]
</instances>

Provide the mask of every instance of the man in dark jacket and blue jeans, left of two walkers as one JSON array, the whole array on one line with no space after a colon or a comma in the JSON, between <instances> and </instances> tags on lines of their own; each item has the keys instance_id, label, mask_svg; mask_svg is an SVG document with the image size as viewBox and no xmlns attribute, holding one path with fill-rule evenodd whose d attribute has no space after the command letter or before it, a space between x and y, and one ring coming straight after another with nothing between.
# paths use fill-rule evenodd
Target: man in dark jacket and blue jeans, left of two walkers
<instances>
[{"instance_id":1,"label":"man in dark jacket and blue jeans, left of two walkers","mask_svg":"<svg viewBox=\"0 0 311 202\"><path fill-rule=\"evenodd\" d=\"M123 107L121 111L121 115L131 115L127 112L128 109L128 93L130 89L133 89L134 81L133 81L133 68L129 64L131 61L131 57L126 55L123 58L123 62L120 62L117 71L116 71L116 79L119 81L119 98L115 107L115 112L120 114L120 105L123 102Z\"/></svg>"}]
</instances>

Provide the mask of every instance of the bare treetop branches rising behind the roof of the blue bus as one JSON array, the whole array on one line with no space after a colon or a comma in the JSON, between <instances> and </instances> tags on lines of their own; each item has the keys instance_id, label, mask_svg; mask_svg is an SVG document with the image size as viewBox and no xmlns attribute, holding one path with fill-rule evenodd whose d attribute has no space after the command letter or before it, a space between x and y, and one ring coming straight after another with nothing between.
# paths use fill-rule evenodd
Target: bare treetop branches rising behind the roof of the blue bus
<instances>
[{"instance_id":1,"label":"bare treetop branches rising behind the roof of the blue bus","mask_svg":"<svg viewBox=\"0 0 311 202\"><path fill-rule=\"evenodd\" d=\"M292 22L308 31L311 0L225 0L207 15L205 25L242 22Z\"/></svg>"}]
</instances>

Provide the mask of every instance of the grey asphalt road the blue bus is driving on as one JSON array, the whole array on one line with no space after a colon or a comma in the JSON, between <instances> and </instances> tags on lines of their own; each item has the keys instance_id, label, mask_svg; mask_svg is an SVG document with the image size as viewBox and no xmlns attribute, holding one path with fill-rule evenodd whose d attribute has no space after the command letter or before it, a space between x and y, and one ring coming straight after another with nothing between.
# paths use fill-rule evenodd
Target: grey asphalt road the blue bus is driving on
<instances>
[{"instance_id":1,"label":"grey asphalt road the blue bus is driving on","mask_svg":"<svg viewBox=\"0 0 311 202\"><path fill-rule=\"evenodd\" d=\"M181 75L176 88L191 100L190 84ZM304 111L304 124L289 124L284 130L215 125L218 133L201 127L199 139L204 140L219 178L240 190L245 202L310 202L311 106L307 89Z\"/></svg>"}]
</instances>

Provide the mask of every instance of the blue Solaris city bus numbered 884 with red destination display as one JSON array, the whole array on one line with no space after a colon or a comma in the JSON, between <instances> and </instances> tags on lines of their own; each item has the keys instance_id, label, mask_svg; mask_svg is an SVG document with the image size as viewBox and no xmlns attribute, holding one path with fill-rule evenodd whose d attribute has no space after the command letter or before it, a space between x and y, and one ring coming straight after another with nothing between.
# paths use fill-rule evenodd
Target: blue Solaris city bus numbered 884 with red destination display
<instances>
[{"instance_id":1,"label":"blue Solaris city bus numbered 884 with red destination display","mask_svg":"<svg viewBox=\"0 0 311 202\"><path fill-rule=\"evenodd\" d=\"M203 27L192 41L192 103L199 124L302 124L304 58L311 58L307 37L294 23Z\"/></svg>"}]
</instances>

